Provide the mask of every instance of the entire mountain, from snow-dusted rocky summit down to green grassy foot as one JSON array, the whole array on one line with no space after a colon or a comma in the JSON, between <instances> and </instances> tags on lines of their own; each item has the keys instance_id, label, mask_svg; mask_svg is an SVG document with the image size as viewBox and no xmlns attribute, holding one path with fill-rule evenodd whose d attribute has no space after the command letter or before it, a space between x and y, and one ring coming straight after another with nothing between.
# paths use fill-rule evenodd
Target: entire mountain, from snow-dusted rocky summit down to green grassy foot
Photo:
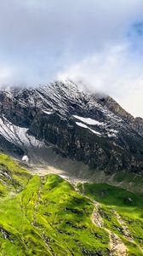
<instances>
[{"instance_id":1,"label":"entire mountain, from snow-dusted rocky summit down to green grassy foot","mask_svg":"<svg viewBox=\"0 0 143 256\"><path fill-rule=\"evenodd\" d=\"M143 255L142 125L71 81L1 90L0 255Z\"/></svg>"}]
</instances>

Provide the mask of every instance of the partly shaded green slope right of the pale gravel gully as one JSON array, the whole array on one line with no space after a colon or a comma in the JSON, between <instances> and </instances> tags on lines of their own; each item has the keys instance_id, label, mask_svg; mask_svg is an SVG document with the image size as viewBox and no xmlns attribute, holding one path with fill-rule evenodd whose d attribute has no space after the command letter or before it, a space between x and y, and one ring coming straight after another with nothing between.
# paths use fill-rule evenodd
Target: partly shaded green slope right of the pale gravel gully
<instances>
[{"instance_id":1,"label":"partly shaded green slope right of the pale gravel gully","mask_svg":"<svg viewBox=\"0 0 143 256\"><path fill-rule=\"evenodd\" d=\"M79 184L78 189L83 195L100 203L99 213L105 228L123 240L128 254L143 255L143 195L106 183ZM128 230L126 236L123 225Z\"/></svg>"}]
</instances>

